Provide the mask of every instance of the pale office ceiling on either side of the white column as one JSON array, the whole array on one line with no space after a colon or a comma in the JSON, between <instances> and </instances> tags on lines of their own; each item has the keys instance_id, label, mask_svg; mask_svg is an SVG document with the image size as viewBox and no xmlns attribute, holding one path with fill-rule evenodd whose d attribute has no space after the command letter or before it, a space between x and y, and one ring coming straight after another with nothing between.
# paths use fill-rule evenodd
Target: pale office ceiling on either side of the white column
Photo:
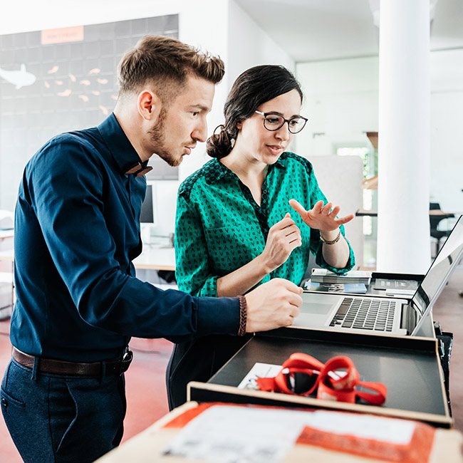
<instances>
[{"instance_id":1,"label":"pale office ceiling on either side of the white column","mask_svg":"<svg viewBox=\"0 0 463 463\"><path fill-rule=\"evenodd\" d=\"M378 55L369 0L235 1L296 62ZM431 50L450 48L463 48L463 0L435 5Z\"/></svg>"}]
</instances>

